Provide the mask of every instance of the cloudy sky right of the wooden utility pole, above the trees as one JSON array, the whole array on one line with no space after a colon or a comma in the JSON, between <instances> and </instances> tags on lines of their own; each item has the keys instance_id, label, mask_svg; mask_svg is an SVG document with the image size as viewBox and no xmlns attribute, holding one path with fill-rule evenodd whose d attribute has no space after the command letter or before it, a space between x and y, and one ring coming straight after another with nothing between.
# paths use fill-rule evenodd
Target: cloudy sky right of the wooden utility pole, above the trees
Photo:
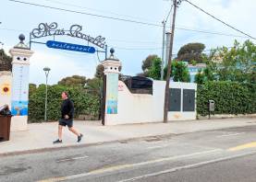
<instances>
[{"instance_id":1,"label":"cloudy sky right of the wooden utility pole, above the trees","mask_svg":"<svg viewBox=\"0 0 256 182\"><path fill-rule=\"evenodd\" d=\"M255 0L248 0L246 3L244 0L190 1L235 28L247 32L252 37L256 37L256 25L251 22L252 17L256 16ZM213 17L209 17L202 13L199 9L190 6L186 2L183 2L178 8L177 27L202 29L212 32L245 36L232 28L226 27L226 25L216 21ZM217 46L232 46L235 39L243 42L249 38L227 37L177 29L175 48L178 50L180 45L197 41L204 43L206 45L206 49L209 50ZM255 40L252 41L255 42Z\"/></svg>"}]
</instances>

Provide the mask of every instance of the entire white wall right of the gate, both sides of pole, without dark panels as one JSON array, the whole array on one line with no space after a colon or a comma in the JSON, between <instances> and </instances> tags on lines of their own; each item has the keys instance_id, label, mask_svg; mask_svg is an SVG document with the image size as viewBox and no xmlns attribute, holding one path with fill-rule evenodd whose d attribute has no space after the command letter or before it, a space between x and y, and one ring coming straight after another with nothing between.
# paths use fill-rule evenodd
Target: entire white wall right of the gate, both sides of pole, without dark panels
<instances>
[{"instance_id":1,"label":"entire white wall right of the gate, both sides of pole, without dark panels","mask_svg":"<svg viewBox=\"0 0 256 182\"><path fill-rule=\"evenodd\" d=\"M196 89L196 84L170 83L171 88ZM131 94L127 85L118 82L117 114L106 114L105 125L163 122L165 81L153 81L152 95ZM182 90L181 90L182 92ZM182 101L181 101L182 103ZM182 106L181 106L182 107ZM196 119L194 112L169 112L169 120Z\"/></svg>"}]
</instances>

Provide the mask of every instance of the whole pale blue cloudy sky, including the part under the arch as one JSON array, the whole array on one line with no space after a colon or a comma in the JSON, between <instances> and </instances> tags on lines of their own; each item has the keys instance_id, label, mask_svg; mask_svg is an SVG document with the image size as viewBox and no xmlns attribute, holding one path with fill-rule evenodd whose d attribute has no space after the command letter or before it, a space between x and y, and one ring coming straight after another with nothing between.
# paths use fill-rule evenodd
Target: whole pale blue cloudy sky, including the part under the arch
<instances>
[{"instance_id":1,"label":"whole pale blue cloudy sky, including the part under the arch","mask_svg":"<svg viewBox=\"0 0 256 182\"><path fill-rule=\"evenodd\" d=\"M107 17L131 19L152 24L159 24L167 16L171 1L167 0L20 0L55 6L73 11L91 13ZM226 21L234 27L256 37L256 1L255 0L190 0L215 17ZM104 36L109 48L115 48L116 57L123 63L123 74L135 75L141 72L141 62L149 54L162 55L163 28L141 25L87 15L59 11L39 6L22 5L8 0L1 0L0 41L6 51L18 43L18 35L23 33L29 42L29 33L38 24L57 22L59 28L70 28L73 24L83 27L82 32L97 37ZM170 20L167 21L170 24ZM222 32L234 36L222 36L184 30L196 29L209 32ZM238 37L237 37L238 36ZM41 41L52 40L48 37ZM217 46L233 45L234 40L247 40L239 32L203 14L187 2L177 9L177 29L175 33L174 53L189 42L201 42L206 50ZM87 44L84 40L58 37L57 40L75 44ZM255 40L252 40L256 43ZM1 48L1 47L0 47ZM96 54L79 53L76 51L60 51L47 48L43 44L32 44L34 54L30 59L30 83L45 82L43 67L48 66L50 84L57 83L61 78L73 74L92 77L99 63ZM99 55L104 59L104 54Z\"/></svg>"}]
</instances>

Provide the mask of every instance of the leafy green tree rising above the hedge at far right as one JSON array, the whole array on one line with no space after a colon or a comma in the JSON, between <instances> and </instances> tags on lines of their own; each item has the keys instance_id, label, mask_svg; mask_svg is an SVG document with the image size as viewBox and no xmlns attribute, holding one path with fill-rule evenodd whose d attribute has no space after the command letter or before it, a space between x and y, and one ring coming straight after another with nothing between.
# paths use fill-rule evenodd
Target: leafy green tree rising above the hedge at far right
<instances>
[{"instance_id":1,"label":"leafy green tree rising above the hedge at far right","mask_svg":"<svg viewBox=\"0 0 256 182\"><path fill-rule=\"evenodd\" d=\"M220 81L255 83L256 45L250 40L243 44L235 40L231 49L213 50L207 64Z\"/></svg>"}]
</instances>

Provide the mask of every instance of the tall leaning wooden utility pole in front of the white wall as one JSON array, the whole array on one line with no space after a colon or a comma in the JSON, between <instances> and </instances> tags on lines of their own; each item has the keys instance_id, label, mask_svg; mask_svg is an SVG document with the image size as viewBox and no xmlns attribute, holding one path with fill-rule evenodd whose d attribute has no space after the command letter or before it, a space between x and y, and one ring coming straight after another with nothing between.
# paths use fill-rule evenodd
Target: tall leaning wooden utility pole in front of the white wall
<instances>
[{"instance_id":1,"label":"tall leaning wooden utility pole in front of the white wall","mask_svg":"<svg viewBox=\"0 0 256 182\"><path fill-rule=\"evenodd\" d=\"M177 5L180 4L180 0L173 0L174 6L174 14L172 21L172 30L171 30L171 40L170 40L170 50L169 50L169 60L167 65L167 77L166 77L166 85L165 85L165 107L164 107L164 122L168 120L168 108L169 108L169 85L170 85L170 74L171 74L171 64L172 64L172 54L173 54L173 43L174 43L174 32L175 32L175 20L176 20L176 12Z\"/></svg>"}]
</instances>

